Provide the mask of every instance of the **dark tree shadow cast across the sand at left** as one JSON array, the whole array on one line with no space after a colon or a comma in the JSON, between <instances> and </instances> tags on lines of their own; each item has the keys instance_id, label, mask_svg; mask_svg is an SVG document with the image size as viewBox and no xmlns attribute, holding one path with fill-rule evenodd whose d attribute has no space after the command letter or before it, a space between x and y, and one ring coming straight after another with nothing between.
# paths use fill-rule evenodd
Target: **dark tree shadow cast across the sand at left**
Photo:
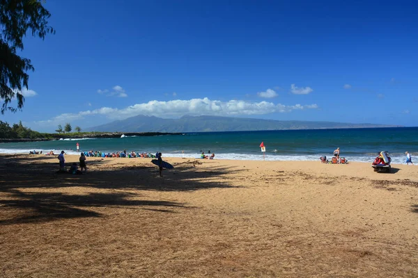
<instances>
[{"instance_id":1,"label":"dark tree shadow cast across the sand at left","mask_svg":"<svg viewBox=\"0 0 418 278\"><path fill-rule=\"evenodd\" d=\"M144 161L137 166L122 165L114 161L109 167L96 167L108 162L89 161L88 167L92 170L89 170L88 174L72 175L56 174L57 159L54 156L0 156L0 225L101 217L100 213L87 209L94 207L173 213L172 208L188 206L178 202L138 199L141 198L141 191L233 188L226 178L222 179L222 182L219 182L219 179L211 179L232 170L227 167L212 167L208 170L199 168L199 165L194 163L196 161L187 161L178 163L173 170L164 170L164 177L158 176L158 168L155 165L149 163L148 166L142 163ZM104 189L104 192L57 192L60 188L72 187ZM52 190L54 192L45 192Z\"/></svg>"}]
</instances>

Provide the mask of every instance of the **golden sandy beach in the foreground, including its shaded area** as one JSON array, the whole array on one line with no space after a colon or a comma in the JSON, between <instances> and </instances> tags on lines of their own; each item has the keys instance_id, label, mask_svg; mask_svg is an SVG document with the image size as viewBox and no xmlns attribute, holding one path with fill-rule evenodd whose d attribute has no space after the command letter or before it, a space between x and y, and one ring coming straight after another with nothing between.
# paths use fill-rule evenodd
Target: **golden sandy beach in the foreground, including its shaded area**
<instances>
[{"instance_id":1,"label":"golden sandy beach in the foreground, including its shaded area","mask_svg":"<svg viewBox=\"0 0 418 278\"><path fill-rule=\"evenodd\" d=\"M0 156L0 276L418 277L417 166L164 160Z\"/></svg>"}]
</instances>

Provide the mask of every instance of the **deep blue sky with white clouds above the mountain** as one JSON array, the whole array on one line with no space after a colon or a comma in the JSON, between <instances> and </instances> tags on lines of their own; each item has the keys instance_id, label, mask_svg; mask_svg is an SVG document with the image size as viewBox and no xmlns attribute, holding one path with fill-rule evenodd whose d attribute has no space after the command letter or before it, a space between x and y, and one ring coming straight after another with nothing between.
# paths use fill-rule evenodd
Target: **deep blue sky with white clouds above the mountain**
<instances>
[{"instance_id":1,"label":"deep blue sky with white clouds above the mountain","mask_svg":"<svg viewBox=\"0 0 418 278\"><path fill-rule=\"evenodd\" d=\"M47 0L24 40L38 131L134 115L418 126L414 1Z\"/></svg>"}]
</instances>

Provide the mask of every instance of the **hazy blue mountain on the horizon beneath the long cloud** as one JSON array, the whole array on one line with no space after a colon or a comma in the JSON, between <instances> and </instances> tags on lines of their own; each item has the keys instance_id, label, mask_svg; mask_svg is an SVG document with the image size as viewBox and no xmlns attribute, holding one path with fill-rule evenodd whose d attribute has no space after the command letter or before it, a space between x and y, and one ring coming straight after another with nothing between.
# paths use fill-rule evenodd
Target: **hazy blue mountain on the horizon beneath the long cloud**
<instances>
[{"instance_id":1,"label":"hazy blue mountain on the horizon beneath the long cloud","mask_svg":"<svg viewBox=\"0 0 418 278\"><path fill-rule=\"evenodd\" d=\"M184 116L180 119L162 119L137 115L125 120L93 126L85 131L103 132L207 132L207 131L261 131L280 129L350 129L390 127L382 124L348 124L342 122L277 121L240 117Z\"/></svg>"}]
</instances>

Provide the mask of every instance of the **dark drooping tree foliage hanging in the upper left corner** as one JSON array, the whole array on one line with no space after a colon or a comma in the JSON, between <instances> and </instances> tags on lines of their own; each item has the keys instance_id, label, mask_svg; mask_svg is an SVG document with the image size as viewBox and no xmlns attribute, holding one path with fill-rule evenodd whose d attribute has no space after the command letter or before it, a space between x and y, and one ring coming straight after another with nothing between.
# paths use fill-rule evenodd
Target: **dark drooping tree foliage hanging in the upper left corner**
<instances>
[{"instance_id":1,"label":"dark drooping tree foliage hanging in the upper left corner","mask_svg":"<svg viewBox=\"0 0 418 278\"><path fill-rule=\"evenodd\" d=\"M0 0L0 103L1 114L22 109L22 89L28 89L29 74L35 70L28 58L17 55L23 50L23 37L31 29L33 36L44 39L47 33L55 33L47 26L51 14L38 0ZM17 99L17 108L9 106Z\"/></svg>"}]
</instances>

